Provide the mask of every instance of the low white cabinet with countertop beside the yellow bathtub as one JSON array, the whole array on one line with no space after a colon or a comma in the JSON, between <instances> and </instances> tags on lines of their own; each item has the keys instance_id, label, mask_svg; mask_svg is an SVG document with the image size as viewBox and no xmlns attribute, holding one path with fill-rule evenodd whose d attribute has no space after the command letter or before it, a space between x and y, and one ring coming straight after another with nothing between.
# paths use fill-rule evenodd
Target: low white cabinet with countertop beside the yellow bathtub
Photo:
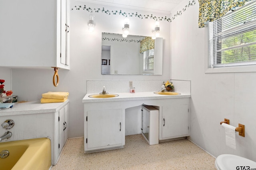
<instances>
[{"instance_id":1,"label":"low white cabinet with countertop beside the yellow bathtub","mask_svg":"<svg viewBox=\"0 0 256 170\"><path fill-rule=\"evenodd\" d=\"M0 123L14 121L7 141L49 137L52 164L55 165L68 139L68 102L41 104L40 101L15 103L10 109L0 110ZM0 135L5 129L0 128Z\"/></svg>"}]
</instances>

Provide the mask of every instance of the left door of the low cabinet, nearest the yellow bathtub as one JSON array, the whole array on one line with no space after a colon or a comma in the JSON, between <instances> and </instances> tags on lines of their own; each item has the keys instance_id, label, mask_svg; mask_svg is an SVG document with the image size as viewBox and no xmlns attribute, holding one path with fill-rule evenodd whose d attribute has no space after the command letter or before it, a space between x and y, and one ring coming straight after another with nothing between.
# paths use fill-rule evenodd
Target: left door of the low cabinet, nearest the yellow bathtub
<instances>
[{"instance_id":1,"label":"left door of the low cabinet, nearest the yellow bathtub","mask_svg":"<svg viewBox=\"0 0 256 170\"><path fill-rule=\"evenodd\" d=\"M63 107L59 111L59 153L61 152L61 150L65 144L65 141L64 141L64 131L65 131L64 115L65 115L65 109Z\"/></svg>"}]
</instances>

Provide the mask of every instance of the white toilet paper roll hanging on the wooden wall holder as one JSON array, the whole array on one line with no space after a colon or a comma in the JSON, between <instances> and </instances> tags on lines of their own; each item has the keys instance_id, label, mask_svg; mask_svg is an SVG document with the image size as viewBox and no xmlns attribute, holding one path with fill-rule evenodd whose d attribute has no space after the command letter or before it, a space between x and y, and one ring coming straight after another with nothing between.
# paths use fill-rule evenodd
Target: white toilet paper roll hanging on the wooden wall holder
<instances>
[{"instance_id":1,"label":"white toilet paper roll hanging on the wooden wall holder","mask_svg":"<svg viewBox=\"0 0 256 170\"><path fill-rule=\"evenodd\" d=\"M226 145L232 149L236 149L236 127L226 123L221 124L225 128Z\"/></svg>"}]
</instances>

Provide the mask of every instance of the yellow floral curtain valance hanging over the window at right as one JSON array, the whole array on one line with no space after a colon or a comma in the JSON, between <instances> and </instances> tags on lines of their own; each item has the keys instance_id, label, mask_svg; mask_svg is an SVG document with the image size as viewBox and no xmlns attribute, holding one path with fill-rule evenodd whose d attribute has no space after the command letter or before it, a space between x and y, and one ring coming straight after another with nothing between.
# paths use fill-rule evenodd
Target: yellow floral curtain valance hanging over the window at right
<instances>
[{"instance_id":1,"label":"yellow floral curtain valance hanging over the window at right","mask_svg":"<svg viewBox=\"0 0 256 170\"><path fill-rule=\"evenodd\" d=\"M215 21L224 16L228 11L243 6L251 0L198 0L199 21L198 27L202 28L207 21Z\"/></svg>"}]
</instances>

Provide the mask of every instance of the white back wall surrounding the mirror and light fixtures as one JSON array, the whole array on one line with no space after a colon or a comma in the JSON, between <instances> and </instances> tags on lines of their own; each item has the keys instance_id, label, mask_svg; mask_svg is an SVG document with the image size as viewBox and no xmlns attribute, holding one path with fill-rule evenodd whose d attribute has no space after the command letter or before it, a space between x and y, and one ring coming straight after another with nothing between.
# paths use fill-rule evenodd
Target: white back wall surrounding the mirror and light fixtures
<instances>
[{"instance_id":1,"label":"white back wall surrounding the mirror and light fixtures","mask_svg":"<svg viewBox=\"0 0 256 170\"><path fill-rule=\"evenodd\" d=\"M131 10L121 7L102 6L71 0L71 8L86 4L90 8L106 10L122 10L123 12L138 12L167 16L155 12ZM69 137L84 136L84 106L82 98L86 94L86 80L142 80L170 79L170 23L160 21L160 36L164 38L163 75L102 75L101 74L101 37L102 32L122 33L122 15L95 14L95 30L88 31L89 12L72 10L70 12L70 70L59 69L60 82L58 87L52 84L53 68L49 69L12 69L12 90L19 100L40 100L41 94L48 91L67 91L69 100ZM130 34L152 36L153 19L130 18ZM128 88L128 84L127 84ZM101 90L101 89L99 89Z\"/></svg>"}]
</instances>

